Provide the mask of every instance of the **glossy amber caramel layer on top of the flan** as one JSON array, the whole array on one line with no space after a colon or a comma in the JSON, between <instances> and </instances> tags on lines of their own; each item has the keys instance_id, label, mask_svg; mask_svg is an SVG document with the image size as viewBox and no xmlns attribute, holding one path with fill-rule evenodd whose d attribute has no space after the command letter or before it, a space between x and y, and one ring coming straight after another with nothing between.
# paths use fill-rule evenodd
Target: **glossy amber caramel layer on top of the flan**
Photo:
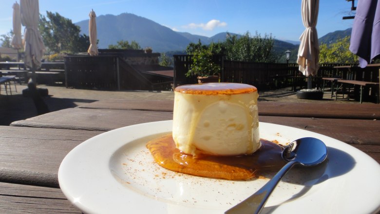
<instances>
[{"instance_id":1,"label":"glossy amber caramel layer on top of the flan","mask_svg":"<svg viewBox=\"0 0 380 214\"><path fill-rule=\"evenodd\" d=\"M176 92L197 95L242 94L257 91L256 87L241 83L204 83L182 85L174 89Z\"/></svg>"}]
</instances>

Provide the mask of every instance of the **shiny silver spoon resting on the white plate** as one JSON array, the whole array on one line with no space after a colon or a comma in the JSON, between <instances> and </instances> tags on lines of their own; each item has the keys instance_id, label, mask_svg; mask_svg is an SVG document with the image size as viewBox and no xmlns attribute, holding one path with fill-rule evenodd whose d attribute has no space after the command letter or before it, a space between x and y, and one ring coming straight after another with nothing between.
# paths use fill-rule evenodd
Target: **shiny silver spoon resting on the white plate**
<instances>
[{"instance_id":1,"label":"shiny silver spoon resting on the white plate","mask_svg":"<svg viewBox=\"0 0 380 214\"><path fill-rule=\"evenodd\" d=\"M301 138L287 145L282 153L286 165L261 189L232 207L225 214L259 214L278 182L294 165L315 166L327 157L327 147L319 139Z\"/></svg>"}]
</instances>

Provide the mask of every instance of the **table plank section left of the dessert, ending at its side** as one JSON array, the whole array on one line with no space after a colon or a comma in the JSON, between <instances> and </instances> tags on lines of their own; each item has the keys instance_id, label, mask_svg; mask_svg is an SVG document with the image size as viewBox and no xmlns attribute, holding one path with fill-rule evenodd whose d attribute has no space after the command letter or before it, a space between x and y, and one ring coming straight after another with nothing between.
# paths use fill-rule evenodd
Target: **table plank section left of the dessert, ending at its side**
<instances>
[{"instance_id":1,"label":"table plank section left of the dessert, ending at its side","mask_svg":"<svg viewBox=\"0 0 380 214\"><path fill-rule=\"evenodd\" d=\"M12 126L109 131L127 125L171 120L173 114L164 111L67 108L26 120Z\"/></svg>"}]
</instances>

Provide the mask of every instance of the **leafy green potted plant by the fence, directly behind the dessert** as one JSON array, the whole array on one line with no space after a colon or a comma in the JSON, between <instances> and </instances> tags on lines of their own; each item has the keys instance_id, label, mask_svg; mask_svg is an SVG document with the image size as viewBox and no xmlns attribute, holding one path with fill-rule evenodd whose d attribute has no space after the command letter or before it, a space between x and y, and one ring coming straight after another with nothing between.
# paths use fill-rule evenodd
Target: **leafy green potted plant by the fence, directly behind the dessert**
<instances>
[{"instance_id":1,"label":"leafy green potted plant by the fence, directly behind the dessert","mask_svg":"<svg viewBox=\"0 0 380 214\"><path fill-rule=\"evenodd\" d=\"M197 76L198 83L219 82L220 66L212 61L211 50L199 48L192 54L192 63L186 76Z\"/></svg>"}]
</instances>

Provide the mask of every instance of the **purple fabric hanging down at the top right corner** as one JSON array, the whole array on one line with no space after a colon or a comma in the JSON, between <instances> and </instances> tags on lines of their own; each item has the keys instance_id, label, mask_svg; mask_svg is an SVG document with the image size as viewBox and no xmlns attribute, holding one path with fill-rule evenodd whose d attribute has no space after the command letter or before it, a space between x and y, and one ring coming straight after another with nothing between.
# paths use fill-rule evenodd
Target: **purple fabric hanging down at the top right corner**
<instances>
[{"instance_id":1,"label":"purple fabric hanging down at the top right corner","mask_svg":"<svg viewBox=\"0 0 380 214\"><path fill-rule=\"evenodd\" d=\"M361 68L380 54L380 0L358 1L350 43Z\"/></svg>"}]
</instances>

